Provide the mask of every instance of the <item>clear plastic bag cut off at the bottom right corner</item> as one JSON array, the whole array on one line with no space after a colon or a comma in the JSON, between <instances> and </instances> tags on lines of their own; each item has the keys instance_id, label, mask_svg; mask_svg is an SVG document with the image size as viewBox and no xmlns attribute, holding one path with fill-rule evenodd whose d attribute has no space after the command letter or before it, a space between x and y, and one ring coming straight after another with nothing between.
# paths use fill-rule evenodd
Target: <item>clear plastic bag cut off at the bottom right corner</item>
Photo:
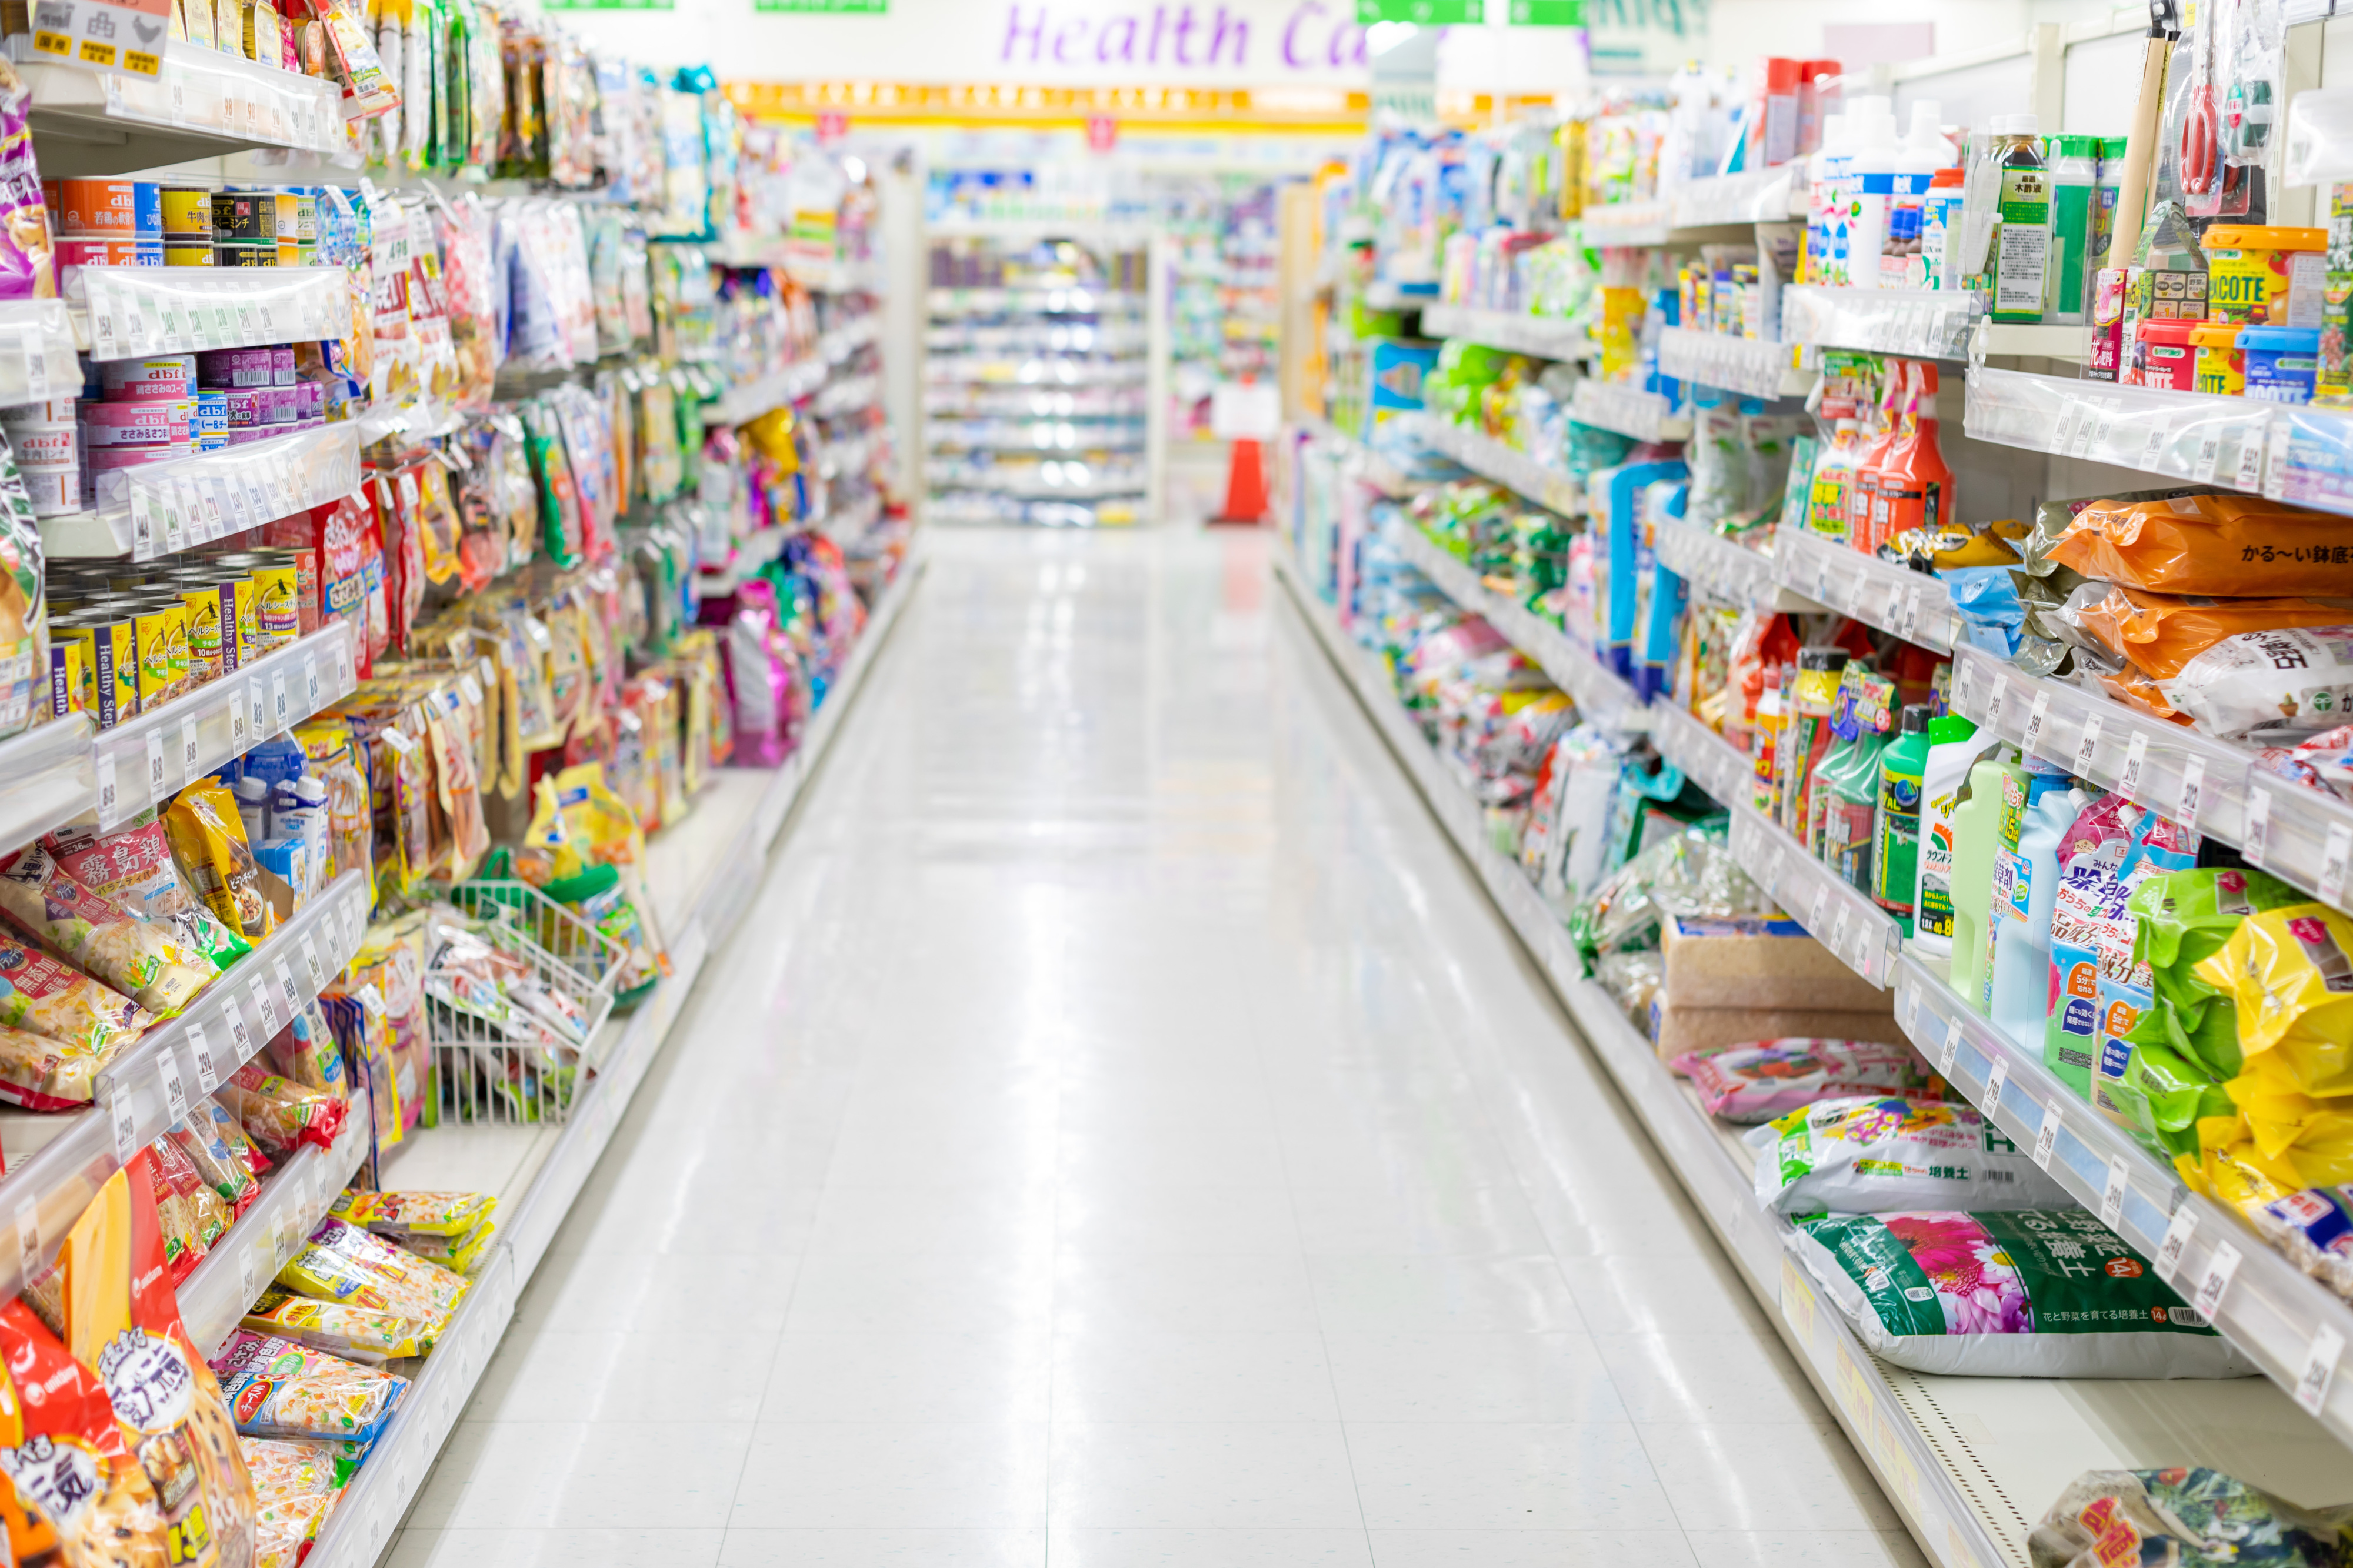
<instances>
[{"instance_id":1,"label":"clear plastic bag cut off at the bottom right corner","mask_svg":"<svg viewBox=\"0 0 2353 1568\"><path fill-rule=\"evenodd\" d=\"M2026 1537L2033 1568L2339 1568L2346 1509L2299 1509L2219 1469L2087 1469Z\"/></svg>"}]
</instances>

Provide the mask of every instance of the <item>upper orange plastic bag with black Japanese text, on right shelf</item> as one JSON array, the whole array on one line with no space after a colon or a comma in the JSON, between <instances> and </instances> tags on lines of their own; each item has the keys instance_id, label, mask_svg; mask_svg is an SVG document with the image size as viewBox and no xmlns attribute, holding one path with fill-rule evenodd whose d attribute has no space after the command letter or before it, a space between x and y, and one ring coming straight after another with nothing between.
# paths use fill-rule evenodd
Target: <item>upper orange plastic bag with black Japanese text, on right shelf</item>
<instances>
[{"instance_id":1,"label":"upper orange plastic bag with black Japanese text, on right shelf","mask_svg":"<svg viewBox=\"0 0 2353 1568\"><path fill-rule=\"evenodd\" d=\"M2153 593L2353 593L2344 520L2254 494L2094 501L2049 558Z\"/></svg>"}]
</instances>

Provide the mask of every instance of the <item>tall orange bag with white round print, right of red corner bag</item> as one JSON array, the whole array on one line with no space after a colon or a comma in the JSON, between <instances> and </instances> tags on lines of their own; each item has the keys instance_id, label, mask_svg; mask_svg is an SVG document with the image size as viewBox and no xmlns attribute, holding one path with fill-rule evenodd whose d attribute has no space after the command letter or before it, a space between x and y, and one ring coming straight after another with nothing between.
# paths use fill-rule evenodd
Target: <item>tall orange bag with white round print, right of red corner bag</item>
<instances>
[{"instance_id":1,"label":"tall orange bag with white round print, right of red corner bag","mask_svg":"<svg viewBox=\"0 0 2353 1568\"><path fill-rule=\"evenodd\" d=\"M106 1382L162 1500L174 1568L242 1568L254 1552L254 1483L165 1278L146 1149L75 1220L59 1271L66 1349Z\"/></svg>"}]
</instances>

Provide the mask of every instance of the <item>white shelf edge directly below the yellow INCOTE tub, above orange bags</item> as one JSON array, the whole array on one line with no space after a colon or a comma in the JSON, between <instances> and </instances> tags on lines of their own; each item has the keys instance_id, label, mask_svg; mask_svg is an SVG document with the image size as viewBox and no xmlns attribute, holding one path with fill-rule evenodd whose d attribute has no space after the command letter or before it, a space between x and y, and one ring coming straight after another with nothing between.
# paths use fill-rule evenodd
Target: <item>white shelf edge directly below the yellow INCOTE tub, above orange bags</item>
<instances>
[{"instance_id":1,"label":"white shelf edge directly below the yellow INCOTE tub, above orange bags","mask_svg":"<svg viewBox=\"0 0 2353 1568\"><path fill-rule=\"evenodd\" d=\"M1974 370L1962 428L2005 447L2261 492L2273 421L2304 412L2254 398Z\"/></svg>"}]
</instances>

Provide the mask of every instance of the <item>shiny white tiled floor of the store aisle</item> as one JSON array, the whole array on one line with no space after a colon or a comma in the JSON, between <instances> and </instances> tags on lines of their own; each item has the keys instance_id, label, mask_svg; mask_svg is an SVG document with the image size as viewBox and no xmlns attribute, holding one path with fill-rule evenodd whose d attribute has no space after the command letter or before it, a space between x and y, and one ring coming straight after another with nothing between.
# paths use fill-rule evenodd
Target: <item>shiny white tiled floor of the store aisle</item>
<instances>
[{"instance_id":1,"label":"shiny white tiled floor of the store aisle","mask_svg":"<svg viewBox=\"0 0 2353 1568\"><path fill-rule=\"evenodd\" d=\"M932 546L400 1568L1920 1563L1266 542Z\"/></svg>"}]
</instances>

